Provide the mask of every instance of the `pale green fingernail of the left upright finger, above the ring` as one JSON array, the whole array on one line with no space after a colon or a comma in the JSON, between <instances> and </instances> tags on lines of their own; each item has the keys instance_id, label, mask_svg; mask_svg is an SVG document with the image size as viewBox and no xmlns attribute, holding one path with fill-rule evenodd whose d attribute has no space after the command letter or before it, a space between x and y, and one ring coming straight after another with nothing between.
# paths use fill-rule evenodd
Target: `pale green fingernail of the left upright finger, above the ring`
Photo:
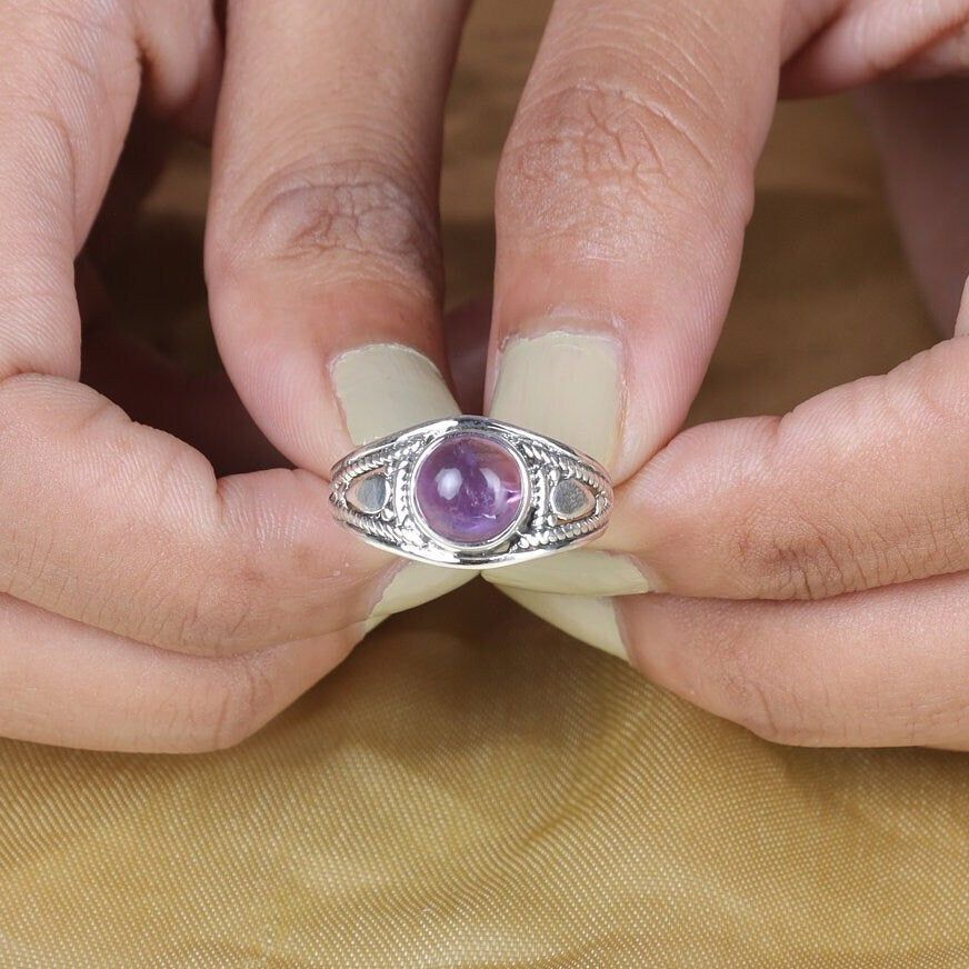
<instances>
[{"instance_id":1,"label":"pale green fingernail of the left upright finger, above the ring","mask_svg":"<svg viewBox=\"0 0 969 969\"><path fill-rule=\"evenodd\" d=\"M332 377L354 444L460 413L433 361L402 343L348 350L333 360Z\"/></svg>"}]
</instances>

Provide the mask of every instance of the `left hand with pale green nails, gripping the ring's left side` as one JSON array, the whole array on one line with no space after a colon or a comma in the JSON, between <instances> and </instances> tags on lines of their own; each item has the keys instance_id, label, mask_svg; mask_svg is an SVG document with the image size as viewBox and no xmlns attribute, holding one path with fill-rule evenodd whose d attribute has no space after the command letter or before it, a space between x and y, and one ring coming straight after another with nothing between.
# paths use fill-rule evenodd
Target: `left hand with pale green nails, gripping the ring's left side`
<instances>
[{"instance_id":1,"label":"left hand with pale green nails, gripping the ring's left side","mask_svg":"<svg viewBox=\"0 0 969 969\"><path fill-rule=\"evenodd\" d=\"M463 4L432 23L416 2L376 22L351 0L229 7L223 58L202 0L0 0L6 737L224 747L382 615L468 578L401 569L343 532L323 478L354 443L457 409L434 366L432 187ZM404 62L374 70L381 46ZM301 470L217 478L189 441L233 470L286 462L231 387L192 386L98 326L93 250L143 190L143 158L119 169L80 263L81 346L74 261L137 103L136 156L162 124L213 134L213 326L249 412ZM89 383L181 437L79 382L82 350Z\"/></svg>"}]
</instances>

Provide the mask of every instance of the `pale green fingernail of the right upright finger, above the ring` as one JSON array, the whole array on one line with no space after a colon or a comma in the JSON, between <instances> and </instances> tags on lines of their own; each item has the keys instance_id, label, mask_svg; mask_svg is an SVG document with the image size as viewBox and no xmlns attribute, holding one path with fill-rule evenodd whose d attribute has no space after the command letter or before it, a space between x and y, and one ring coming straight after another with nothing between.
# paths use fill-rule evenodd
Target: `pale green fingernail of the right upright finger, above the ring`
<instances>
[{"instance_id":1,"label":"pale green fingernail of the right upright finger, above the ring","mask_svg":"<svg viewBox=\"0 0 969 969\"><path fill-rule=\"evenodd\" d=\"M503 347L491 417L563 441L609 467L622 422L619 342L562 324L560 318L535 321L529 330L556 329ZM583 326L588 321L576 320L577 329Z\"/></svg>"}]
</instances>

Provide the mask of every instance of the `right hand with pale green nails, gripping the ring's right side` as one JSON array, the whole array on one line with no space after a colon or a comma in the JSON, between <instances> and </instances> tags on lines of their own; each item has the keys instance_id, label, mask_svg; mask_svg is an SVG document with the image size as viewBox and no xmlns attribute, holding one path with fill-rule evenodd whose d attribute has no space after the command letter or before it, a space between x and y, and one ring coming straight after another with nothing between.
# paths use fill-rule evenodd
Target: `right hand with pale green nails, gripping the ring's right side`
<instances>
[{"instance_id":1,"label":"right hand with pale green nails, gripping the ring's right side","mask_svg":"<svg viewBox=\"0 0 969 969\"><path fill-rule=\"evenodd\" d=\"M506 149L491 412L620 487L595 550L487 577L773 740L969 748L969 86L940 80L965 73L967 33L966 2L558 0ZM867 86L956 336L785 417L675 437L779 76L791 94Z\"/></svg>"}]
</instances>

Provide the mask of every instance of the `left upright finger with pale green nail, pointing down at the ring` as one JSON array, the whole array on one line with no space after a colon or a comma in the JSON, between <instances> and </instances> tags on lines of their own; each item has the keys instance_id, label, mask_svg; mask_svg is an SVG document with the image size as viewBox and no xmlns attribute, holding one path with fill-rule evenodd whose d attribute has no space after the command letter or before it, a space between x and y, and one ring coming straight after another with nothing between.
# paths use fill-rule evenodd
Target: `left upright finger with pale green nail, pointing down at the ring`
<instances>
[{"instance_id":1,"label":"left upright finger with pale green nail, pointing down at the ring","mask_svg":"<svg viewBox=\"0 0 969 969\"><path fill-rule=\"evenodd\" d=\"M318 473L351 442L458 410L441 378L437 192L466 6L230 4L213 326L259 426Z\"/></svg>"}]
</instances>

